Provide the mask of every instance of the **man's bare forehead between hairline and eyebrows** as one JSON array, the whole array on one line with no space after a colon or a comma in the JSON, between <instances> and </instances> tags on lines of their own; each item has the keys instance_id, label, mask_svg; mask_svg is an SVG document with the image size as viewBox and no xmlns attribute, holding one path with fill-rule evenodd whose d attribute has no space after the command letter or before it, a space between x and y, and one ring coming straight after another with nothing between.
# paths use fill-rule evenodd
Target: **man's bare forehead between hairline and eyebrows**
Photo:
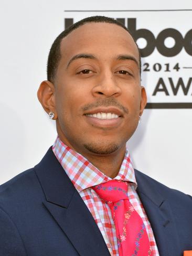
<instances>
[{"instance_id":1,"label":"man's bare forehead between hairline and eyebrows","mask_svg":"<svg viewBox=\"0 0 192 256\"><path fill-rule=\"evenodd\" d=\"M131 35L122 27L109 23L87 23L73 30L61 40L61 59L88 53L98 58L113 58L129 54L139 59L137 46Z\"/></svg>"}]
</instances>

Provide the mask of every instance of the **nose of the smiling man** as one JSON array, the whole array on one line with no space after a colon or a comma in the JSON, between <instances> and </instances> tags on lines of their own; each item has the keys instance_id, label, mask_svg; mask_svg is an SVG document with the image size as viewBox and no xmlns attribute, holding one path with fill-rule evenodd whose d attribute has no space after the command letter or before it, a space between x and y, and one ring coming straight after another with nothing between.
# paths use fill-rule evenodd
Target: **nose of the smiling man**
<instances>
[{"instance_id":1,"label":"nose of the smiling man","mask_svg":"<svg viewBox=\"0 0 192 256\"><path fill-rule=\"evenodd\" d=\"M121 94L121 88L115 79L115 75L111 72L101 73L95 81L95 86L92 88L94 97L118 97Z\"/></svg>"}]
</instances>

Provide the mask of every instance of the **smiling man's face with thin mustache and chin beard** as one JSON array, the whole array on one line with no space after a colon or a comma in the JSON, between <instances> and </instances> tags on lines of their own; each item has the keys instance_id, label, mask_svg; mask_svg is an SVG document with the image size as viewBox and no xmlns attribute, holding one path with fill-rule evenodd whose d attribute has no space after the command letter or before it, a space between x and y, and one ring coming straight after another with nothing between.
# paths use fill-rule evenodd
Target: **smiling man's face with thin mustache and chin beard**
<instances>
[{"instance_id":1,"label":"smiling man's face with thin mustache and chin beard","mask_svg":"<svg viewBox=\"0 0 192 256\"><path fill-rule=\"evenodd\" d=\"M59 137L85 156L124 151L145 105L132 37L115 24L88 23L63 38L60 50Z\"/></svg>"}]
</instances>

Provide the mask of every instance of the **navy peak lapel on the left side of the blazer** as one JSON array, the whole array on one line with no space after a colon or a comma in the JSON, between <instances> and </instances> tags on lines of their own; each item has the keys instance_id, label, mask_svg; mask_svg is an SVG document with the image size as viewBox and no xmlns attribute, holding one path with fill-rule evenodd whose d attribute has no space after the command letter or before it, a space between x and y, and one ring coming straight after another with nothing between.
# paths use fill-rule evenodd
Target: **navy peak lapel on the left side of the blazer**
<instances>
[{"instance_id":1,"label":"navy peak lapel on the left side of the blazer","mask_svg":"<svg viewBox=\"0 0 192 256\"><path fill-rule=\"evenodd\" d=\"M102 234L52 149L35 167L45 207L82 256L110 255Z\"/></svg>"}]
</instances>

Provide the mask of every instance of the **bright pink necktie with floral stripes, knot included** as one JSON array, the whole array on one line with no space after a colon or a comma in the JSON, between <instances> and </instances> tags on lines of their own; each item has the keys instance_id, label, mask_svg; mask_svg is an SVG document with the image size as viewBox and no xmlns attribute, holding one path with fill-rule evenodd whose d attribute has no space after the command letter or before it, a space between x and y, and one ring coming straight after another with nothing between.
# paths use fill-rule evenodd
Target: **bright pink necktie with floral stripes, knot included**
<instances>
[{"instance_id":1,"label":"bright pink necktie with floral stripes, knot included","mask_svg":"<svg viewBox=\"0 0 192 256\"><path fill-rule=\"evenodd\" d=\"M127 197L127 182L110 180L92 187L109 205L116 228L120 256L151 255L150 241L142 218Z\"/></svg>"}]
</instances>

